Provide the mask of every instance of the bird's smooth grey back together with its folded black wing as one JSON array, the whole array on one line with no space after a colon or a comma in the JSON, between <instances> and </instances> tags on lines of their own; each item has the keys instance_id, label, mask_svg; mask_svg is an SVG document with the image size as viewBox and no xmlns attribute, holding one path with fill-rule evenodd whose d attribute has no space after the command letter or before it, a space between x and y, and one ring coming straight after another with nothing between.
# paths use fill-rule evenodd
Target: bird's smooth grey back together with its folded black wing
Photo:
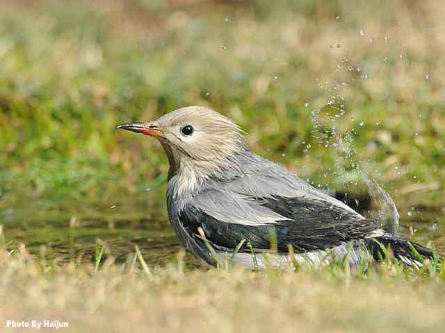
<instances>
[{"instance_id":1,"label":"bird's smooth grey back together with its folded black wing","mask_svg":"<svg viewBox=\"0 0 445 333\"><path fill-rule=\"evenodd\" d=\"M304 252L382 233L374 221L283 170L215 183L188 201L179 221L192 234L201 227L213 246L226 249L245 239L267 250L276 237L279 251L292 245Z\"/></svg>"}]
</instances>

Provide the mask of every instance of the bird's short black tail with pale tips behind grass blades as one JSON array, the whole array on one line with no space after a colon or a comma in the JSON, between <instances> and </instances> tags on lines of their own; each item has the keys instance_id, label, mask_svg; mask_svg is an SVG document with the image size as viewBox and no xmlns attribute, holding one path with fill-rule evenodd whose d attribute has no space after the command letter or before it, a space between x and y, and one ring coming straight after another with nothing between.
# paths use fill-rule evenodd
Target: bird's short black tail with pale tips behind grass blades
<instances>
[{"instance_id":1,"label":"bird's short black tail with pale tips behind grass blades","mask_svg":"<svg viewBox=\"0 0 445 333\"><path fill-rule=\"evenodd\" d=\"M425 259L442 262L442 259L429 248L421 246L398 234L385 233L381 237L369 239L369 248L374 259L382 260L392 255L407 266L422 267Z\"/></svg>"}]
</instances>

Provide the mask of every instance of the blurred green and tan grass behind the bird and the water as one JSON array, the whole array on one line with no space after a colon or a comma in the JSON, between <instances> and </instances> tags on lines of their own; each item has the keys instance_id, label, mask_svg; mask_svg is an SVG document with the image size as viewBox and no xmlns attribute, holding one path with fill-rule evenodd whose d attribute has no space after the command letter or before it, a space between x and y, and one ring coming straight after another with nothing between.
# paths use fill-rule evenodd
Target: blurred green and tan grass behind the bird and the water
<instances>
[{"instance_id":1,"label":"blurred green and tan grass behind the bird and the water","mask_svg":"<svg viewBox=\"0 0 445 333\"><path fill-rule=\"evenodd\" d=\"M94 219L132 200L163 211L163 151L115 126L185 105L347 189L334 128L402 214L443 215L443 15L411 0L0 1L0 219Z\"/></svg>"}]
</instances>

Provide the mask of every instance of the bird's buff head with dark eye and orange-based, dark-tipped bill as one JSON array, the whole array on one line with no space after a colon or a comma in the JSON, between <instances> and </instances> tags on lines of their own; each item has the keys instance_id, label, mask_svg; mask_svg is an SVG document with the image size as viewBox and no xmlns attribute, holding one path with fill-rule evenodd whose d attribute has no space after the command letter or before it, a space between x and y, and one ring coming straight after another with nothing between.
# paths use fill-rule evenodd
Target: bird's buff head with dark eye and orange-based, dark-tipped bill
<instances>
[{"instance_id":1,"label":"bird's buff head with dark eye and orange-based, dark-tipped bill","mask_svg":"<svg viewBox=\"0 0 445 333\"><path fill-rule=\"evenodd\" d=\"M210 174L246 148L243 130L232 119L199 106L180 108L155 121L124 123L118 128L152 136L161 142L170 162L169 179L188 169Z\"/></svg>"}]
</instances>

